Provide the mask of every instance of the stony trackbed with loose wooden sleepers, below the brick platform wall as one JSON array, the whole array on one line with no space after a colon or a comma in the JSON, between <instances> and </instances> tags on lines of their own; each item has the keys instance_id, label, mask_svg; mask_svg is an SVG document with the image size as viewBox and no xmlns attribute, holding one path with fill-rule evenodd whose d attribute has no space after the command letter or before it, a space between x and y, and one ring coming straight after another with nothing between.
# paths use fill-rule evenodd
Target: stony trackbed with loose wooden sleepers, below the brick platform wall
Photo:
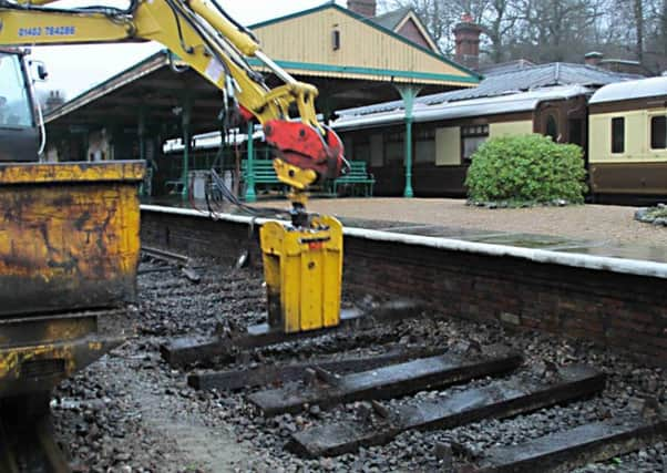
<instances>
[{"instance_id":1,"label":"stony trackbed with loose wooden sleepers, below the brick platform wall","mask_svg":"<svg viewBox=\"0 0 667 473\"><path fill-rule=\"evenodd\" d=\"M114 393L110 412L93 422L105 432L113 419L123 436L103 433L110 444L94 456L82 446L88 441L73 442L80 464L94 457L101 469L167 472L193 465L597 472L667 464L661 371L588 343L454 320L404 300L349 299L352 321L340 330L269 337L257 331L265 305L258 271L194 260L195 284L178 260L146 255L136 336L59 392L76 402L90 385L103 387L93 390L95 399ZM61 442L92 429L80 425L86 415L101 415L80 411L57 411ZM197 435L222 439L220 456L186 441ZM229 445L242 451L229 454ZM234 463L225 464L228 457Z\"/></svg>"}]
</instances>

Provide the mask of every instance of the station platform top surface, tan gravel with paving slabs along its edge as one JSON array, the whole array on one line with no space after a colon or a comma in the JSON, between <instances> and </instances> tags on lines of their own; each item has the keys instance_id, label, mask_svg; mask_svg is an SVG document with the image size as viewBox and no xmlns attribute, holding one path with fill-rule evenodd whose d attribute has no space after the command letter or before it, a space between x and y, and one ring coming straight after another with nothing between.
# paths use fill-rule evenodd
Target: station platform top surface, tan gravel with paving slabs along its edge
<instances>
[{"instance_id":1,"label":"station platform top surface, tan gravel with paving slabs along its edge","mask_svg":"<svg viewBox=\"0 0 667 473\"><path fill-rule=\"evenodd\" d=\"M150 203L192 208L191 203L177 198ZM205 203L197 205L206 209ZM288 205L286 200L253 204L256 208ZM239 214L232 205L220 209ZM315 198L309 209L336 215L347 228L667 263L667 228L635 222L632 207L582 205L491 210L465 206L462 199ZM370 215L380 218L369 218Z\"/></svg>"}]
</instances>

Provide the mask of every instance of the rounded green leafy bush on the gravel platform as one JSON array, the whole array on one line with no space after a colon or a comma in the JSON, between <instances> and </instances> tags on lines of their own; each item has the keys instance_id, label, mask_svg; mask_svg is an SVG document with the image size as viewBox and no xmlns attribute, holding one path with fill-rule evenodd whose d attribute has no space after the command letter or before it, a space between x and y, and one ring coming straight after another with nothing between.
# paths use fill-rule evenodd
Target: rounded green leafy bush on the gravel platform
<instances>
[{"instance_id":1,"label":"rounded green leafy bush on the gravel platform","mask_svg":"<svg viewBox=\"0 0 667 473\"><path fill-rule=\"evenodd\" d=\"M582 204L584 153L537 134L486 141L472 156L465 185L473 202Z\"/></svg>"}]
</instances>

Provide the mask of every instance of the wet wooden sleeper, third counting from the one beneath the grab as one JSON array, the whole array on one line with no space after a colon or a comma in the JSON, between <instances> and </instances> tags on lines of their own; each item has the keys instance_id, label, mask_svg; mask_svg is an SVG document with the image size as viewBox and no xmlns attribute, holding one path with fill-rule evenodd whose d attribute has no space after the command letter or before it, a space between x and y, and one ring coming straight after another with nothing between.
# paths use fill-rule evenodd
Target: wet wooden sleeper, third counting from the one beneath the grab
<instances>
[{"instance_id":1,"label":"wet wooden sleeper, third counting from the one beneath the grab","mask_svg":"<svg viewBox=\"0 0 667 473\"><path fill-rule=\"evenodd\" d=\"M319 382L307 385L293 383L280 389L259 391L248 399L264 415L294 414L315 404L330 409L340 403L383 400L442 389L475 378L507 373L522 362L521 354L494 346L484 353L444 353L342 377L316 366L315 378Z\"/></svg>"}]
</instances>

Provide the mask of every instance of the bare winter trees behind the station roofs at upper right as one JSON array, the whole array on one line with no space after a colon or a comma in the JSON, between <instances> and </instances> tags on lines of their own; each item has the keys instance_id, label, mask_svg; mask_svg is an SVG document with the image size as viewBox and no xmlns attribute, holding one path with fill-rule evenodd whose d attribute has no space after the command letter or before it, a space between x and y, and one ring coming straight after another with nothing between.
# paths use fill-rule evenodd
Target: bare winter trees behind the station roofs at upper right
<instances>
[{"instance_id":1,"label":"bare winter trees behind the station roofs at upper right","mask_svg":"<svg viewBox=\"0 0 667 473\"><path fill-rule=\"evenodd\" d=\"M579 62L601 51L667 68L667 0L384 0L384 10L410 7L441 49L454 50L463 13L482 27L490 62L529 59ZM483 60L484 58L482 58Z\"/></svg>"}]
</instances>

